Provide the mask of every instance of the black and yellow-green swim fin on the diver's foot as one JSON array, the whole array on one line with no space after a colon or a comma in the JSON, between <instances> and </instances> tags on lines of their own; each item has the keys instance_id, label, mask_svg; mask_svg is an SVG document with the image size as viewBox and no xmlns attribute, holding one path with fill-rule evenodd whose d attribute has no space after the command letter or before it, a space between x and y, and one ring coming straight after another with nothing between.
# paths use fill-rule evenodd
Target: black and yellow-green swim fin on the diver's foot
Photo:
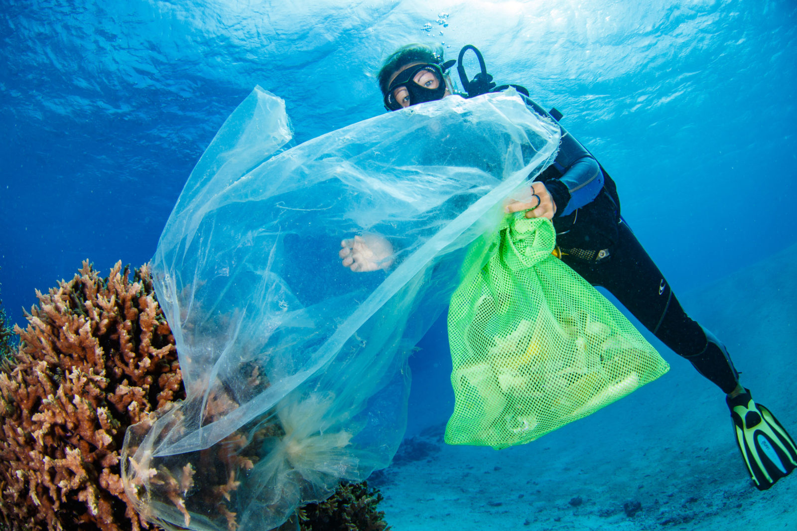
<instances>
[{"instance_id":1,"label":"black and yellow-green swim fin on the diver's foot","mask_svg":"<svg viewBox=\"0 0 797 531\"><path fill-rule=\"evenodd\" d=\"M726 398L736 431L736 443L752 481L759 490L767 490L797 467L797 445L775 415L755 403L750 390Z\"/></svg>"}]
</instances>

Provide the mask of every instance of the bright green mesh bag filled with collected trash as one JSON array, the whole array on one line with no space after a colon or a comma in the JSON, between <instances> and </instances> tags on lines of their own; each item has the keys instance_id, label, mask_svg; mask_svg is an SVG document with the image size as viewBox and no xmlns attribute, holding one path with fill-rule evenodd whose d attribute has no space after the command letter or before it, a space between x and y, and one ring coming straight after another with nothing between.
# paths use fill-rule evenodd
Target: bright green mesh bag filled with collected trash
<instances>
[{"instance_id":1,"label":"bright green mesh bag filled with collected trash","mask_svg":"<svg viewBox=\"0 0 797 531\"><path fill-rule=\"evenodd\" d=\"M455 404L446 443L529 443L669 370L552 254L555 242L548 219L516 214L470 250L448 317Z\"/></svg>"}]
</instances>

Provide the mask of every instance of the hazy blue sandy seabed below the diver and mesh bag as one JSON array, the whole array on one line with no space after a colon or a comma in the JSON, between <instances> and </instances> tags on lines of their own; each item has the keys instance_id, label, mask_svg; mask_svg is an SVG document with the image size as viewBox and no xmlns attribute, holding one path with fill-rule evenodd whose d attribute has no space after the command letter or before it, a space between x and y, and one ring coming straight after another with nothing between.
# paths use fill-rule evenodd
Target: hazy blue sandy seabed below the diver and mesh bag
<instances>
[{"instance_id":1,"label":"hazy blue sandy seabed below the diver and mesh bag","mask_svg":"<svg viewBox=\"0 0 797 531\"><path fill-rule=\"evenodd\" d=\"M742 384L792 435L795 263L791 246L679 297L725 342ZM370 480L383 492L391 528L797 529L797 473L764 492L752 486L724 394L653 343L672 366L668 374L524 446L448 446L446 417L410 402L410 416L423 416L426 427L410 432L393 464Z\"/></svg>"}]
</instances>

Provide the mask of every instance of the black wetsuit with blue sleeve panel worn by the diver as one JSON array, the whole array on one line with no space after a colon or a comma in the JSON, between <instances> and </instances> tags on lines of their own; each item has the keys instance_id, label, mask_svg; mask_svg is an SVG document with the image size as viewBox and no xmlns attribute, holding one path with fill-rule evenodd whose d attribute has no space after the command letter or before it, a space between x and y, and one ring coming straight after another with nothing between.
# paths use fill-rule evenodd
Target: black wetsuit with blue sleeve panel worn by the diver
<instances>
[{"instance_id":1,"label":"black wetsuit with blue sleeve panel worn by the diver","mask_svg":"<svg viewBox=\"0 0 797 531\"><path fill-rule=\"evenodd\" d=\"M532 100L528 104L553 120ZM555 163L536 180L545 183L556 203L553 225L563 262L591 285L603 286L617 297L703 376L724 392L732 391L738 373L727 350L686 315L662 272L620 217L614 181L564 128Z\"/></svg>"}]
</instances>

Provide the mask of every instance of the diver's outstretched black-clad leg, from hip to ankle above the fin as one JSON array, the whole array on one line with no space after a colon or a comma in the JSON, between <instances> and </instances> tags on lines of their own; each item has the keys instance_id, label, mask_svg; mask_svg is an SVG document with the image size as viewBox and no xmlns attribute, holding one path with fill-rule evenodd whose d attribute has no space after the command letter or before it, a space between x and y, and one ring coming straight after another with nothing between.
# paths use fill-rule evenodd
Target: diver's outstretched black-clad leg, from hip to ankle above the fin
<instances>
[{"instance_id":1,"label":"diver's outstretched black-clad leg, from hip to ankle above the fin","mask_svg":"<svg viewBox=\"0 0 797 531\"><path fill-rule=\"evenodd\" d=\"M625 222L610 258L598 263L563 257L592 285L608 289L662 343L728 394L743 390L724 345L681 308L664 275Z\"/></svg>"}]
</instances>

